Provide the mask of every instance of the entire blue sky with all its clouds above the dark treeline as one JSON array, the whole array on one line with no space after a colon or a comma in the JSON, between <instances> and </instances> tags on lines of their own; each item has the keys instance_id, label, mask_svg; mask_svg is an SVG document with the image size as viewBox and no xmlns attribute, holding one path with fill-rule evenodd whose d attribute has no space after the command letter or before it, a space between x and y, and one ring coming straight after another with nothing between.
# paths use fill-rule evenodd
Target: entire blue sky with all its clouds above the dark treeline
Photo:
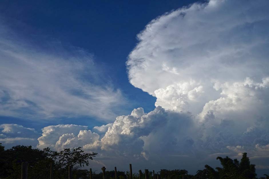
<instances>
[{"instance_id":1,"label":"entire blue sky with all its clouds above the dark treeline","mask_svg":"<svg viewBox=\"0 0 269 179\"><path fill-rule=\"evenodd\" d=\"M0 142L91 168L268 173L269 2L1 1Z\"/></svg>"}]
</instances>

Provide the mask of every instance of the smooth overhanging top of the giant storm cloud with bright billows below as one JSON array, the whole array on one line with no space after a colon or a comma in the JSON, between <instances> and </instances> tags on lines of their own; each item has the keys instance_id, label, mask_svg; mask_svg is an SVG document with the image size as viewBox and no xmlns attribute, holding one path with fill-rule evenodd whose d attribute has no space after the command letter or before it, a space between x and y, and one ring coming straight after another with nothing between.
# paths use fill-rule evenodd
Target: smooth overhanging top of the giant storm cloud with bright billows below
<instances>
[{"instance_id":1,"label":"smooth overhanging top of the giant storm cloud with bright billows below","mask_svg":"<svg viewBox=\"0 0 269 179\"><path fill-rule=\"evenodd\" d=\"M210 0L157 17L129 54L130 83L156 96L156 106L195 113L229 95L220 84L261 83L269 76L267 7L264 0Z\"/></svg>"}]
</instances>

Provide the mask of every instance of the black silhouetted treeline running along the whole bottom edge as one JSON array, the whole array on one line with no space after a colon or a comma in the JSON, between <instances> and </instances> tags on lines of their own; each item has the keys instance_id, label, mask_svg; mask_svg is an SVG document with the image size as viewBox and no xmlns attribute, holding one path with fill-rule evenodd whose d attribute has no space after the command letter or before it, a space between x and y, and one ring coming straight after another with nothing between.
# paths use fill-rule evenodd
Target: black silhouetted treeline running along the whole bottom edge
<instances>
[{"instance_id":1,"label":"black silhouetted treeline running along the whole bottom edge","mask_svg":"<svg viewBox=\"0 0 269 179\"><path fill-rule=\"evenodd\" d=\"M85 154L81 148L73 150L65 149L55 152L46 148L44 150L33 149L31 146L14 146L5 150L0 144L0 178L18 179L21 176L21 163L28 162L28 179L49 179L50 167L53 163L53 178L68 178L67 167L71 166L73 179L89 179L89 171L81 170L81 167L88 166L96 153ZM256 179L256 169L254 164L250 164L247 154L244 153L242 159L232 160L229 157L217 157L222 167L212 168L205 165L203 170L198 170L195 175L188 174L187 170L160 170L159 179ZM157 173L157 172L156 172ZM102 179L103 173L93 171L92 179ZM105 171L105 179L115 179L115 171ZM130 173L117 171L118 179L129 179ZM140 179L139 174L133 173L133 179ZM144 174L142 174L144 179ZM155 179L153 173L149 172L149 179ZM269 179L264 175L260 179Z\"/></svg>"}]
</instances>

